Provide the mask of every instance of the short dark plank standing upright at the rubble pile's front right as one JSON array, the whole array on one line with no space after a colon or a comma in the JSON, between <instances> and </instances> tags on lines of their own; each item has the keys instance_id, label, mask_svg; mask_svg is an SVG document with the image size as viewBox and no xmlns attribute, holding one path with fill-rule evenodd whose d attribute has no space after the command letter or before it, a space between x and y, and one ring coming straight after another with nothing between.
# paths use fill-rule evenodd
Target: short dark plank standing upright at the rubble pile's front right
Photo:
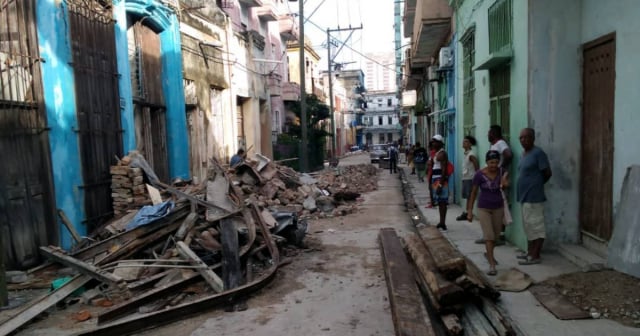
<instances>
[{"instance_id":1,"label":"short dark plank standing upright at the rubble pile's front right","mask_svg":"<svg viewBox=\"0 0 640 336\"><path fill-rule=\"evenodd\" d=\"M242 273L238 243L238 229L233 219L220 221L220 242L222 243L222 279L226 290L241 285Z\"/></svg>"}]
</instances>

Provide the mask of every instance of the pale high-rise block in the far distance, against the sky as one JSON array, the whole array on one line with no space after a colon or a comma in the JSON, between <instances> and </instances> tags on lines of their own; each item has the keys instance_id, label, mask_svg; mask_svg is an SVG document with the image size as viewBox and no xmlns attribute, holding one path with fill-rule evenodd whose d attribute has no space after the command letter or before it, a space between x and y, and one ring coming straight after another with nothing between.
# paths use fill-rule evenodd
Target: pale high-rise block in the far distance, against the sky
<instances>
[{"instance_id":1,"label":"pale high-rise block in the far distance, against the sky","mask_svg":"<svg viewBox=\"0 0 640 336\"><path fill-rule=\"evenodd\" d=\"M365 85L367 90L396 91L395 54L393 52L365 54Z\"/></svg>"}]
</instances>

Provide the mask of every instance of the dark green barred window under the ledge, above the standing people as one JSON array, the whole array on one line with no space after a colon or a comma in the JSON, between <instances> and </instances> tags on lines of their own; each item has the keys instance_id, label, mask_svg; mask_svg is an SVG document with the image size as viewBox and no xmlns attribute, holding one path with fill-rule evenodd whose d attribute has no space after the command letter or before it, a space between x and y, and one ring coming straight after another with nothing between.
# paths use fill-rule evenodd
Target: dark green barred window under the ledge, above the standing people
<instances>
[{"instance_id":1,"label":"dark green barred window under the ledge, above the standing people","mask_svg":"<svg viewBox=\"0 0 640 336\"><path fill-rule=\"evenodd\" d=\"M491 125L500 125L502 135L509 142L510 133L510 111L509 103L511 98L511 68L504 65L492 69L489 72L489 118Z\"/></svg>"}]
</instances>

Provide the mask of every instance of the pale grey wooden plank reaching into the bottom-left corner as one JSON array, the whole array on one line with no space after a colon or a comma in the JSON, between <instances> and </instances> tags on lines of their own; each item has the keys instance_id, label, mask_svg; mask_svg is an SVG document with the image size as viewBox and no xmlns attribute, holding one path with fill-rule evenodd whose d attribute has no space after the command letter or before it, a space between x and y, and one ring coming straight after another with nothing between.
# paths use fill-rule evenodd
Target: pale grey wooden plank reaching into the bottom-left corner
<instances>
[{"instance_id":1,"label":"pale grey wooden plank reaching into the bottom-left corner","mask_svg":"<svg viewBox=\"0 0 640 336\"><path fill-rule=\"evenodd\" d=\"M34 301L32 304L25 307L20 313L16 314L11 319L1 324L0 335L11 334L25 323L31 321L34 317L40 315L40 313L53 307L56 303L60 302L71 293L84 286L87 282L89 282L89 280L91 280L90 276L77 275L62 287L45 295L40 300Z\"/></svg>"}]
</instances>

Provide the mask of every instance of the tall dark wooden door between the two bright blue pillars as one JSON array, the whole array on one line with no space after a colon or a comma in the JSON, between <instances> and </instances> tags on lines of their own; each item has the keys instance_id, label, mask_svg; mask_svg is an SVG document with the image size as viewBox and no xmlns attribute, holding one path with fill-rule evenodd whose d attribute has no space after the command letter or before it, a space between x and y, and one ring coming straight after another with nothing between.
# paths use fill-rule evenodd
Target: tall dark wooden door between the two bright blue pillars
<instances>
[{"instance_id":1,"label":"tall dark wooden door between the two bright blue pillars","mask_svg":"<svg viewBox=\"0 0 640 336\"><path fill-rule=\"evenodd\" d=\"M122 127L111 8L69 1L76 130L82 159L85 224L92 232L113 217L109 167L122 157Z\"/></svg>"}]
</instances>

